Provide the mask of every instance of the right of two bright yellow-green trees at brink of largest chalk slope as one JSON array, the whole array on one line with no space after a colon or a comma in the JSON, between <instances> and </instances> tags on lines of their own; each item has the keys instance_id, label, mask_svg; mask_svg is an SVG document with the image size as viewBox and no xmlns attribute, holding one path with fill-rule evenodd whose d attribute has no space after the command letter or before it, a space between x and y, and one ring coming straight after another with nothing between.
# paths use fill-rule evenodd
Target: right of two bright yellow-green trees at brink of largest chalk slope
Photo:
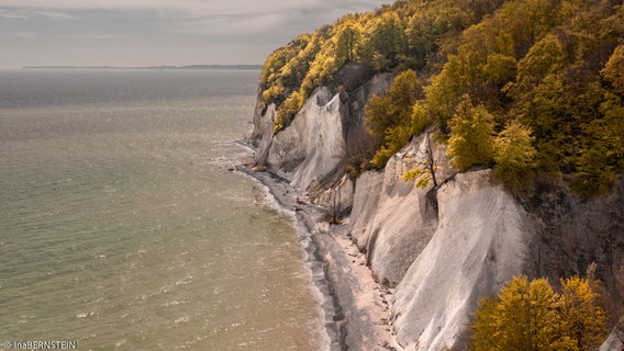
<instances>
[{"instance_id":1,"label":"right of two bright yellow-green trees at brink of largest chalk slope","mask_svg":"<svg viewBox=\"0 0 624 351\"><path fill-rule=\"evenodd\" d=\"M494 139L494 174L512 192L526 189L536 166L537 151L530 127L512 121Z\"/></svg>"}]
</instances>

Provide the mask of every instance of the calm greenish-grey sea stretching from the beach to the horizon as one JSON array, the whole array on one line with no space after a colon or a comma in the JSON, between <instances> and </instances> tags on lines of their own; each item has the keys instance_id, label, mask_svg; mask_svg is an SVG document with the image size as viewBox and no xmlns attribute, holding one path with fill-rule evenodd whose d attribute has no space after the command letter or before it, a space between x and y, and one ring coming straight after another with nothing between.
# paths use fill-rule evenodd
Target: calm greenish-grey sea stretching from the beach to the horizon
<instances>
[{"instance_id":1,"label":"calm greenish-grey sea stretching from the beach to the horizon","mask_svg":"<svg viewBox=\"0 0 624 351\"><path fill-rule=\"evenodd\" d=\"M323 344L296 229L227 171L258 73L0 72L0 349Z\"/></svg>"}]
</instances>

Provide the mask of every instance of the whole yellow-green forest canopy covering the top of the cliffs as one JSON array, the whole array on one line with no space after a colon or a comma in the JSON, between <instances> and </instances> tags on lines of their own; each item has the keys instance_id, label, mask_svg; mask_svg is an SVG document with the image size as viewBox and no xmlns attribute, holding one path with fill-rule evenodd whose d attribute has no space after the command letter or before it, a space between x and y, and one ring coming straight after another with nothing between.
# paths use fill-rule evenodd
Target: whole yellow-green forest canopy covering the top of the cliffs
<instances>
[{"instance_id":1,"label":"whole yellow-green forest canopy covering the top of the cliffs","mask_svg":"<svg viewBox=\"0 0 624 351\"><path fill-rule=\"evenodd\" d=\"M400 0L348 14L267 58L276 133L352 61L397 77L367 106L371 167L428 125L458 169L493 167L513 191L539 176L591 197L624 170L621 0Z\"/></svg>"}]
</instances>

